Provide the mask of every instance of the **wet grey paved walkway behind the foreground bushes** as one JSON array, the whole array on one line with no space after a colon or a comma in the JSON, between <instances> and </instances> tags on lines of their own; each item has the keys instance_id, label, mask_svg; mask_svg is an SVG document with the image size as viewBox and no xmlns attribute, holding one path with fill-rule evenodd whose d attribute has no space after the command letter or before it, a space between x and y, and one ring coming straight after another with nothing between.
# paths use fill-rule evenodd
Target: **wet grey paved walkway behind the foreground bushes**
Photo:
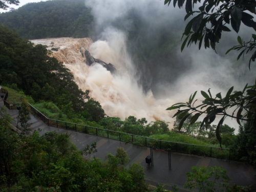
<instances>
[{"instance_id":1,"label":"wet grey paved walkway behind the foreground bushes","mask_svg":"<svg viewBox=\"0 0 256 192\"><path fill-rule=\"evenodd\" d=\"M14 118L13 124L16 125L17 110L9 110L10 115ZM161 151L153 151L154 167L148 166L145 163L145 157L150 155L150 149L147 147L137 146L130 143L124 143L116 140L101 138L88 134L78 133L74 131L67 131L46 125L40 119L31 115L32 127L34 130L41 129L40 134L48 131L55 131L57 133L68 133L72 142L82 150L87 144L97 142L97 153L95 156L101 159L108 154L115 154L117 147L123 147L130 157L130 162L139 163L144 167L145 179L149 184L156 185L162 183L166 188L170 189L172 185L177 185L179 191L189 191L184 189L183 185L186 181L186 173L190 171L191 166L221 166L227 170L230 178L230 183L238 185L252 185L256 189L256 169L251 165L247 165L235 161L227 161L216 158L184 155L179 153L172 153L172 170L168 169L168 153Z\"/></svg>"}]
</instances>

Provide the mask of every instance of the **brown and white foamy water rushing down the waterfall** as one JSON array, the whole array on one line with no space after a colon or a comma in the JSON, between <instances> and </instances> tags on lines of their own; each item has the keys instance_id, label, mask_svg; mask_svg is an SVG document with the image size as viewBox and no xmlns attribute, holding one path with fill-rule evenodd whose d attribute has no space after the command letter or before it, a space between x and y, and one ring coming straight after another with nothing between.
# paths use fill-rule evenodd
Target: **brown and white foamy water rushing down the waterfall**
<instances>
[{"instance_id":1,"label":"brown and white foamy water rushing down the waterfall","mask_svg":"<svg viewBox=\"0 0 256 192\"><path fill-rule=\"evenodd\" d=\"M148 122L164 120L171 124L172 114L165 109L173 102L170 99L156 99L151 91L143 92L134 75L131 58L126 51L125 35L112 29L106 30L104 34L105 40L96 42L90 41L89 38L80 40L51 38L31 41L35 44L47 45L48 49L59 48L58 51L53 51L52 56L71 70L81 90L90 90L90 96L100 102L108 116L120 117L124 120L133 115L137 118L145 117ZM82 49L88 49L95 58L112 63L117 72L111 74L98 63L87 66L80 52Z\"/></svg>"}]
</instances>

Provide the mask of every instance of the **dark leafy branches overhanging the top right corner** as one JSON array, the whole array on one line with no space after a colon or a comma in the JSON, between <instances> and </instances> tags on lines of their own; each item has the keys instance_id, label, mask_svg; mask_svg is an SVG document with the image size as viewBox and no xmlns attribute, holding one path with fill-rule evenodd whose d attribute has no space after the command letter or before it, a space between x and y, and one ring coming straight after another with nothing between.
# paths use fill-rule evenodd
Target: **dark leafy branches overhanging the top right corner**
<instances>
[{"instance_id":1,"label":"dark leafy branches overhanging the top right corner","mask_svg":"<svg viewBox=\"0 0 256 192\"><path fill-rule=\"evenodd\" d=\"M164 4L170 4L172 0L165 0ZM256 1L255 0L204 0L202 6L198 10L194 11L194 5L201 3L201 0L174 0L174 7L178 4L181 8L185 4L186 16L185 20L193 15L197 14L192 18L186 25L183 36L186 38L181 46L181 51L184 47L189 46L195 42L199 42L199 49L204 41L204 47L212 48L215 50L216 43L221 39L222 31L231 31L227 26L231 24L231 27L237 33L239 32L241 22L250 28L256 30L256 23L253 21L251 13L255 14ZM245 53L255 50L256 48L256 34L252 34L252 38L245 42L238 36L239 45L232 47L227 51L241 50L238 55L239 59ZM251 55L249 61L254 61L256 58L256 51Z\"/></svg>"}]
</instances>

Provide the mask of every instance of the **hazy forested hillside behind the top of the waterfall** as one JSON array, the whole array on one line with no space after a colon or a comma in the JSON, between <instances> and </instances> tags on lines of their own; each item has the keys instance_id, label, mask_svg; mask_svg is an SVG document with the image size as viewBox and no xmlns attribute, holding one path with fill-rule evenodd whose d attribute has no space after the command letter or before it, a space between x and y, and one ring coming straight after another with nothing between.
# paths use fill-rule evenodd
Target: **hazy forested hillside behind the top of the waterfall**
<instances>
[{"instance_id":1,"label":"hazy forested hillside behind the top of the waterfall","mask_svg":"<svg viewBox=\"0 0 256 192\"><path fill-rule=\"evenodd\" d=\"M83 0L30 3L0 14L0 23L26 39L88 37L94 29L93 16Z\"/></svg>"}]
</instances>

